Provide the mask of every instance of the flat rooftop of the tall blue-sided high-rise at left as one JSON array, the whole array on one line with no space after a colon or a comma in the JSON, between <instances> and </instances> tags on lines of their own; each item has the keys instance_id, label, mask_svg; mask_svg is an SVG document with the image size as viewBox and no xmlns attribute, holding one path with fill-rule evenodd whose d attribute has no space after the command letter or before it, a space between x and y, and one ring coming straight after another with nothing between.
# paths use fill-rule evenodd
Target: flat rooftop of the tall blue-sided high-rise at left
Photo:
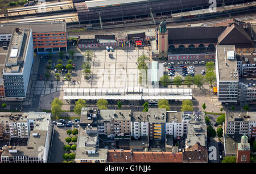
<instances>
[{"instance_id":1,"label":"flat rooftop of the tall blue-sided high-rise at left","mask_svg":"<svg viewBox=\"0 0 256 174\"><path fill-rule=\"evenodd\" d=\"M14 29L6 55L5 73L22 73L26 61L27 46L30 40L30 29Z\"/></svg>"}]
</instances>

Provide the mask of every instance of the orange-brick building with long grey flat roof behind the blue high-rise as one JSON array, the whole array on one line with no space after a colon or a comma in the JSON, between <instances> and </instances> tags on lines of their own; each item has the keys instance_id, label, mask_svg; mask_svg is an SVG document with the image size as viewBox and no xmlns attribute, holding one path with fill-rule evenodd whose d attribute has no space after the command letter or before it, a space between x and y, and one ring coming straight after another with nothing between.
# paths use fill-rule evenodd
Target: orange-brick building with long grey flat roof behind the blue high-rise
<instances>
[{"instance_id":1,"label":"orange-brick building with long grey flat roof behind the blue high-rise","mask_svg":"<svg viewBox=\"0 0 256 174\"><path fill-rule=\"evenodd\" d=\"M14 28L32 30L33 48L37 51L60 51L67 52L67 31L65 22L35 22L35 23L5 23L1 24L1 41L8 41L11 38L11 31Z\"/></svg>"}]
</instances>

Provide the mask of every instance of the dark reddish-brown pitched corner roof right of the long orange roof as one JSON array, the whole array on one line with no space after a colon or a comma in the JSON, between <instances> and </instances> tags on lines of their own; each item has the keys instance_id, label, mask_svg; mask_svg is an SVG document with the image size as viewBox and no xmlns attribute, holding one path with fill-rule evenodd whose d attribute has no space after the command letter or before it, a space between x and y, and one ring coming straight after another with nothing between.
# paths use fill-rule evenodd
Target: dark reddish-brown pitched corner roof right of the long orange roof
<instances>
[{"instance_id":1,"label":"dark reddish-brown pitched corner roof right of the long orange roof","mask_svg":"<svg viewBox=\"0 0 256 174\"><path fill-rule=\"evenodd\" d=\"M207 148L199 143L186 149L183 154L184 163L207 163L208 151Z\"/></svg>"}]
</instances>

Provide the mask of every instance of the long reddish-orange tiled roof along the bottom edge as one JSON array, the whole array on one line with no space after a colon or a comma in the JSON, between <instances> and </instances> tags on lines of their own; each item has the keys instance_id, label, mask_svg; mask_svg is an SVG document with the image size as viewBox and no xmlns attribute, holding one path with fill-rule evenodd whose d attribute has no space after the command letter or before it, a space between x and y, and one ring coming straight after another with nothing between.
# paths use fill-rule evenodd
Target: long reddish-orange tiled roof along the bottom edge
<instances>
[{"instance_id":1,"label":"long reddish-orange tiled roof along the bottom edge","mask_svg":"<svg viewBox=\"0 0 256 174\"><path fill-rule=\"evenodd\" d=\"M133 152L130 150L109 150L109 163L182 163L182 152Z\"/></svg>"}]
</instances>

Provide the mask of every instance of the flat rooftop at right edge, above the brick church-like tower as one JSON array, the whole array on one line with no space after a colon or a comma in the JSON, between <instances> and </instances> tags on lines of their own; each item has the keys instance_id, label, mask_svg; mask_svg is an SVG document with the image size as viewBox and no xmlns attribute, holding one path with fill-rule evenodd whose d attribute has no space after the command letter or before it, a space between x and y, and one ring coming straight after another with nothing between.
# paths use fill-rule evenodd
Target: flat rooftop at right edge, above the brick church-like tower
<instances>
[{"instance_id":1,"label":"flat rooftop at right edge, above the brick church-like tower","mask_svg":"<svg viewBox=\"0 0 256 174\"><path fill-rule=\"evenodd\" d=\"M226 111L227 121L256 121L256 112Z\"/></svg>"}]
</instances>

